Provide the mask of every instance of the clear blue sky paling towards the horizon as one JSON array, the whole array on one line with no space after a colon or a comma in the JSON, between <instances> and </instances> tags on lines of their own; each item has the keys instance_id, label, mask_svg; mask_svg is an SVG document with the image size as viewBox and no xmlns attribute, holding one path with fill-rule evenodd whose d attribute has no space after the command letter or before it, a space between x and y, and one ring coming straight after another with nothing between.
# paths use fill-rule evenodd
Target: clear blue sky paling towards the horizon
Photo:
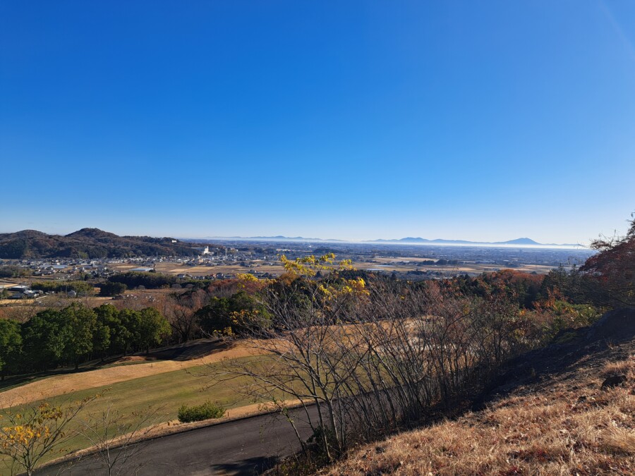
<instances>
[{"instance_id":1,"label":"clear blue sky paling towards the horizon","mask_svg":"<svg viewBox=\"0 0 635 476\"><path fill-rule=\"evenodd\" d=\"M0 231L588 243L633 1L0 2Z\"/></svg>"}]
</instances>

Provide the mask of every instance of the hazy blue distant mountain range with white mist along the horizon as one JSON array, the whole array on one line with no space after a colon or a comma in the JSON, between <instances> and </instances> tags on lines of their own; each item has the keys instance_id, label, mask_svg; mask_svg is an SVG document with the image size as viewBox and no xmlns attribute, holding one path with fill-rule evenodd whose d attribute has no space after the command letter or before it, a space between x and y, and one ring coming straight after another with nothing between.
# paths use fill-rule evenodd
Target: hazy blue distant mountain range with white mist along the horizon
<instances>
[{"instance_id":1,"label":"hazy blue distant mountain range with white mist along the horizon","mask_svg":"<svg viewBox=\"0 0 635 476\"><path fill-rule=\"evenodd\" d=\"M183 238L184 240L194 240L194 238ZM474 245L474 246L495 246L495 245L516 245L516 246L558 246L558 247L569 247L569 248L584 248L583 245L578 243L538 243L531 238L516 238L515 240L508 241L468 241L468 240L443 240L437 238L436 240L428 240L426 238L398 238L392 240L368 240L361 242L351 242L346 240L337 240L337 239L322 239L322 238L304 238L303 236L209 236L206 238L195 238L197 240L234 240L234 241L277 241L277 242L306 242L306 243L394 243L401 245Z\"/></svg>"}]
</instances>

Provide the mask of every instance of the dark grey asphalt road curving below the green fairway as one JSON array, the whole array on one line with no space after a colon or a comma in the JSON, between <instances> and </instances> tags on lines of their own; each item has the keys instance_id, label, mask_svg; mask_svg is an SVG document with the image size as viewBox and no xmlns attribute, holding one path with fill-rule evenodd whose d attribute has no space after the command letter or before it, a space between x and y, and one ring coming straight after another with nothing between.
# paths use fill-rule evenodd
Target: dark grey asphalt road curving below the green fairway
<instances>
[{"instance_id":1,"label":"dark grey asphalt road curving below the green fairway","mask_svg":"<svg viewBox=\"0 0 635 476\"><path fill-rule=\"evenodd\" d=\"M315 413L315 408L312 409ZM301 437L310 437L303 410L292 410ZM312 415L313 417L314 415ZM121 475L256 475L299 450L293 428L279 415L262 415L145 441ZM107 475L95 456L54 465L37 475Z\"/></svg>"}]
</instances>

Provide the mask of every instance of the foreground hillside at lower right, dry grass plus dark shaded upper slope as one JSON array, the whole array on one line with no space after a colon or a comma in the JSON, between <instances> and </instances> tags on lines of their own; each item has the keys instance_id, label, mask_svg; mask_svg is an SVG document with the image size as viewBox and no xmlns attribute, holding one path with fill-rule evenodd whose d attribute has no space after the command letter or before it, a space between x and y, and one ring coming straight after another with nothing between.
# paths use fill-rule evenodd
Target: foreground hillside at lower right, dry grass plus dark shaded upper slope
<instances>
[{"instance_id":1,"label":"foreground hillside at lower right, dry grass plus dark shaded upper slope","mask_svg":"<svg viewBox=\"0 0 635 476\"><path fill-rule=\"evenodd\" d=\"M605 384L616 376L626 382ZM512 362L482 410L357 448L322 474L635 474L633 382L635 311L611 312Z\"/></svg>"}]
</instances>

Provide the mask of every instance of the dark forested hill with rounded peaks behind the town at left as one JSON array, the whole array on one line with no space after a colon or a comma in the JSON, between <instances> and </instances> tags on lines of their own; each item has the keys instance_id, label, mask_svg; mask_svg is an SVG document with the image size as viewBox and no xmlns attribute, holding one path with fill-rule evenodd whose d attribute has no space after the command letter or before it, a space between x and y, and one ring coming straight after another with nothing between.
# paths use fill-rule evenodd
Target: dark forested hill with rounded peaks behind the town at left
<instances>
[{"instance_id":1,"label":"dark forested hill with rounded peaks behind the town at left","mask_svg":"<svg viewBox=\"0 0 635 476\"><path fill-rule=\"evenodd\" d=\"M98 228L82 228L68 235L47 235L42 231L23 230L0 233L0 258L117 258L135 256L196 255L197 243L183 243L174 238L117 236Z\"/></svg>"}]
</instances>

